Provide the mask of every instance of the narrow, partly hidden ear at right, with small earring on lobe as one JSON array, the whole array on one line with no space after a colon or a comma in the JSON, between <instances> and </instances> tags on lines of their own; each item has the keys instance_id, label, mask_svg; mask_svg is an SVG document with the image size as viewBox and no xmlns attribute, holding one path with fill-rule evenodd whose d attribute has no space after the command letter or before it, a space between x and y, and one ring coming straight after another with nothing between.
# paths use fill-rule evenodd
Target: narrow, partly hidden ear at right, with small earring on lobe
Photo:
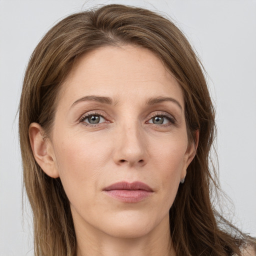
<instances>
[{"instance_id":1,"label":"narrow, partly hidden ear at right, with small earring on lobe","mask_svg":"<svg viewBox=\"0 0 256 256\"><path fill-rule=\"evenodd\" d=\"M184 155L184 167L183 167L183 171L181 172L180 179L183 179L186 176L186 169L196 154L198 141L199 141L199 130L197 129L194 131L193 141L189 143L187 146L187 149Z\"/></svg>"}]
</instances>

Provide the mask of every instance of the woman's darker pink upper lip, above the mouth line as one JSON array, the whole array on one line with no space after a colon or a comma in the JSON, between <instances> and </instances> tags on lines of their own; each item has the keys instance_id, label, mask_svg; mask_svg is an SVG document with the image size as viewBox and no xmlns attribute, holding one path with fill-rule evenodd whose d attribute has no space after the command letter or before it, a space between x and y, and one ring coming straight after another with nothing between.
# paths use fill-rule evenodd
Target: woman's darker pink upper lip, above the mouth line
<instances>
[{"instance_id":1,"label":"woman's darker pink upper lip, above the mouth line","mask_svg":"<svg viewBox=\"0 0 256 256\"><path fill-rule=\"evenodd\" d=\"M117 182L111 184L110 186L105 187L103 190L145 190L150 192L153 191L153 189L150 186L140 181L134 181L132 183L126 181Z\"/></svg>"}]
</instances>

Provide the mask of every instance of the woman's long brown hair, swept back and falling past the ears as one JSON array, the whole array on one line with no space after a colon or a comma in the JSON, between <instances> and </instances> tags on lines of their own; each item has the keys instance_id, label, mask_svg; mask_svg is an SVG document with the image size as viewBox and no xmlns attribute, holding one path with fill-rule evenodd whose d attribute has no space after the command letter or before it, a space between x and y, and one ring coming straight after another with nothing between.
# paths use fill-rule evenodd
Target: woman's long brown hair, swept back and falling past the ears
<instances>
[{"instance_id":1,"label":"woman's long brown hair, swept back and falling past the ears","mask_svg":"<svg viewBox=\"0 0 256 256\"><path fill-rule=\"evenodd\" d=\"M169 210L176 255L226 256L237 253L243 234L212 207L217 188L210 171L214 139L214 108L200 61L182 32L152 11L119 4L72 14L53 26L29 60L19 106L19 136L23 180L33 211L35 255L75 255L76 238L69 202L59 178L47 176L36 163L28 127L39 123L46 136L54 123L61 82L75 59L103 45L140 45L154 52L178 80L184 95L188 137L199 130L197 152ZM221 228L222 224L228 231Z\"/></svg>"}]
</instances>

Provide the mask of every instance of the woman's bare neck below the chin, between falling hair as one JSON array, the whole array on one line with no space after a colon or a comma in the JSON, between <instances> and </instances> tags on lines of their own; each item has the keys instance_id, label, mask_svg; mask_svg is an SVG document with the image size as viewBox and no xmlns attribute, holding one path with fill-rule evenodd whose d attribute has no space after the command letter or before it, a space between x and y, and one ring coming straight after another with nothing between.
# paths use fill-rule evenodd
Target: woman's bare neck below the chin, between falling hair
<instances>
[{"instance_id":1,"label":"woman's bare neck below the chin, between falling hair","mask_svg":"<svg viewBox=\"0 0 256 256\"><path fill-rule=\"evenodd\" d=\"M138 237L114 237L87 223L75 223L74 220L76 256L175 256L168 218L149 233Z\"/></svg>"}]
</instances>

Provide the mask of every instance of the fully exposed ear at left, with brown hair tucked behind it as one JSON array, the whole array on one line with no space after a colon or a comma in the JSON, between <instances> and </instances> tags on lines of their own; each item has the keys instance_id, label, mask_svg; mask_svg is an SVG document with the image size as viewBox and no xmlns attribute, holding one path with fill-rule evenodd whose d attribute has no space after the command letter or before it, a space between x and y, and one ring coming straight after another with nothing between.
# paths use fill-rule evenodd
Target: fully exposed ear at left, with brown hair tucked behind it
<instances>
[{"instance_id":1,"label":"fully exposed ear at left, with brown hair tucked behind it","mask_svg":"<svg viewBox=\"0 0 256 256\"><path fill-rule=\"evenodd\" d=\"M49 138L44 137L43 128L38 123L32 122L29 125L28 134L36 162L48 176L58 177L52 142Z\"/></svg>"}]
</instances>

